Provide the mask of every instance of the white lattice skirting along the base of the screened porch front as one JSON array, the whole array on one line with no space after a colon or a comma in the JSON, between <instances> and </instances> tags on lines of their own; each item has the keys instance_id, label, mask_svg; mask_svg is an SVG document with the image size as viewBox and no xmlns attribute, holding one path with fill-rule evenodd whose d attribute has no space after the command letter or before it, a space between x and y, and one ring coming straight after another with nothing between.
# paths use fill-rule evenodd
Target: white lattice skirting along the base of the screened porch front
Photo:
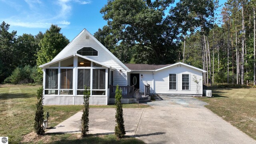
<instances>
[{"instance_id":1,"label":"white lattice skirting along the base of the screened porch front","mask_svg":"<svg viewBox=\"0 0 256 144\"><path fill-rule=\"evenodd\" d=\"M44 96L43 105L81 105L83 96ZM107 105L106 96L90 96L90 105Z\"/></svg>"}]
</instances>

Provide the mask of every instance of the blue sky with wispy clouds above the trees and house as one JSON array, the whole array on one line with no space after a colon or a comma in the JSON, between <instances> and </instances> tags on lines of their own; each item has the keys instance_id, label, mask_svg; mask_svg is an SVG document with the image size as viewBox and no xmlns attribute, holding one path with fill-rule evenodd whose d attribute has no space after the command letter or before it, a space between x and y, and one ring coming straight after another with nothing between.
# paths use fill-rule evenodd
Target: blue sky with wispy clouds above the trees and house
<instances>
[{"instance_id":1,"label":"blue sky with wispy clouds above the trees and house","mask_svg":"<svg viewBox=\"0 0 256 144\"><path fill-rule=\"evenodd\" d=\"M83 28L94 34L107 24L100 14L105 4L107 0L0 0L0 22L10 24L9 30L16 30L17 35L36 35L58 24L72 40Z\"/></svg>"}]
</instances>

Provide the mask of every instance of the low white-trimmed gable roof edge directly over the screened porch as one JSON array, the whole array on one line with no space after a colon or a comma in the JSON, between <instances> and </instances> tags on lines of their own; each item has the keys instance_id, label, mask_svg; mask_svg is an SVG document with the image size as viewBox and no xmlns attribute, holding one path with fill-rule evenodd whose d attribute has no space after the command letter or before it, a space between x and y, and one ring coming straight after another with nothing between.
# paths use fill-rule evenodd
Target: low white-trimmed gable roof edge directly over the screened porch
<instances>
[{"instance_id":1,"label":"low white-trimmed gable roof edge directly over the screened porch","mask_svg":"<svg viewBox=\"0 0 256 144\"><path fill-rule=\"evenodd\" d=\"M64 56L64 57L62 57L62 58L60 58L60 59L52 60L52 61L50 61L50 62L47 62L47 63L45 63L45 64L42 64L42 65L39 66L39 68L44 68L44 66L48 66L48 65L50 65L50 64L54 64L54 63L56 63L56 62L58 62L58 61L60 61L60 60L65 60L65 59L67 59L67 58L71 58L72 56L78 56L78 57L80 57L80 58L84 58L84 59L86 59L86 60L90 60L90 61L92 61L92 62L95 62L96 64L100 64L100 65L105 66L105 67L107 67L107 68L112 68L111 66L108 66L108 65L106 65L106 64L102 64L101 62L98 62L98 61L96 61L96 60L93 60L93 59L91 59L91 58L87 58L86 56L82 56L82 55L76 54L76 53L74 53L74 54L69 54L69 55ZM112 69L115 69L115 68L112 68Z\"/></svg>"}]
</instances>

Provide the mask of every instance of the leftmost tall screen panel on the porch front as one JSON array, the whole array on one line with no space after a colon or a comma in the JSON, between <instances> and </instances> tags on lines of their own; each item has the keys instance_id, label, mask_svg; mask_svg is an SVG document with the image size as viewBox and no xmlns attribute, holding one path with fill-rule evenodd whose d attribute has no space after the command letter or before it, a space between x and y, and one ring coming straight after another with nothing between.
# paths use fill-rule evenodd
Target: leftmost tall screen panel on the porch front
<instances>
[{"instance_id":1,"label":"leftmost tall screen panel on the porch front","mask_svg":"<svg viewBox=\"0 0 256 144\"><path fill-rule=\"evenodd\" d=\"M58 69L46 69L46 89L58 89Z\"/></svg>"}]
</instances>

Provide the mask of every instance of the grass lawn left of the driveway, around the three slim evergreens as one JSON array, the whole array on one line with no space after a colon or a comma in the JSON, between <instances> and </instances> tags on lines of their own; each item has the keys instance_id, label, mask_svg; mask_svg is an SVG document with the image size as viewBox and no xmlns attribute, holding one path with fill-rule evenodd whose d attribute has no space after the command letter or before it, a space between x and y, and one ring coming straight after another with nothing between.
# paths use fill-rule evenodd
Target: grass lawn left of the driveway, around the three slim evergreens
<instances>
[{"instance_id":1,"label":"grass lawn left of the driveway, around the three slim evergreens","mask_svg":"<svg viewBox=\"0 0 256 144\"><path fill-rule=\"evenodd\" d=\"M36 91L40 86L0 85L0 136L8 136L10 143L20 143L23 137L33 131L36 110ZM90 106L114 108L108 106ZM124 104L123 108L146 108L145 104ZM44 113L49 112L49 126L53 127L82 110L80 105L44 106ZM78 138L77 134L47 134L46 143L144 143L135 138L117 139L115 136L88 136ZM26 143L26 142L25 142ZM31 142L28 142L31 143ZM44 143L38 140L36 143Z\"/></svg>"}]
</instances>

